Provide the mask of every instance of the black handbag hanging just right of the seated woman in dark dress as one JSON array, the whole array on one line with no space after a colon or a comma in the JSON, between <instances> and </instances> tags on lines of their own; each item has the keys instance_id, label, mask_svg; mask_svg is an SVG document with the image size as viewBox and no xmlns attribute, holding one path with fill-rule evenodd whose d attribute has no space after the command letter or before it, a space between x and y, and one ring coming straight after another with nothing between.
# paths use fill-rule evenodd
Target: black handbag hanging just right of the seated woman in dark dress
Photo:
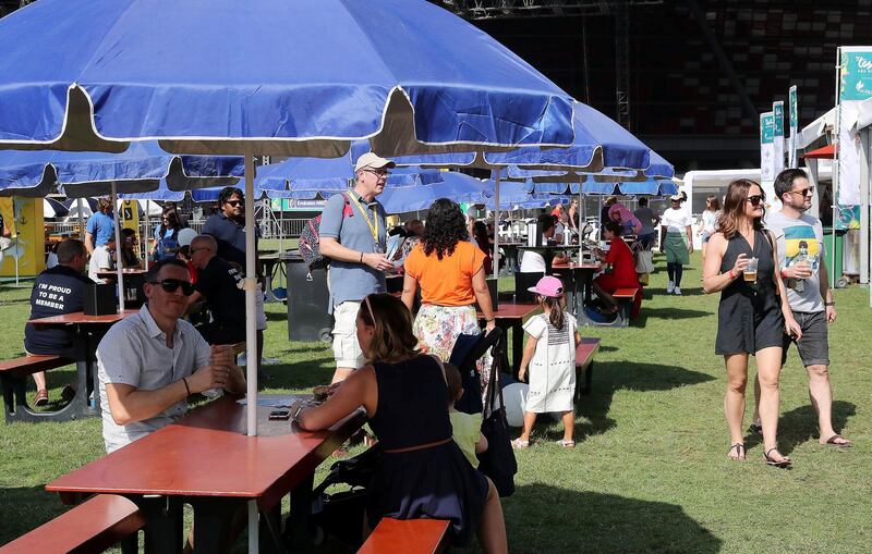
<instances>
[{"instance_id":1,"label":"black handbag hanging just right of the seated woman in dark dress","mask_svg":"<svg viewBox=\"0 0 872 554\"><path fill-rule=\"evenodd\" d=\"M491 368L491 379L487 382L484 406L484 421L482 434L487 439L487 450L479 454L479 469L494 481L500 496L511 496L514 493L514 473L518 472L518 461L511 447L509 423L506 421L506 405L502 402L502 389L499 386L499 373L502 369L502 341L499 341L492 350L494 365ZM494 401L499 395L499 407L494 409Z\"/></svg>"}]
</instances>

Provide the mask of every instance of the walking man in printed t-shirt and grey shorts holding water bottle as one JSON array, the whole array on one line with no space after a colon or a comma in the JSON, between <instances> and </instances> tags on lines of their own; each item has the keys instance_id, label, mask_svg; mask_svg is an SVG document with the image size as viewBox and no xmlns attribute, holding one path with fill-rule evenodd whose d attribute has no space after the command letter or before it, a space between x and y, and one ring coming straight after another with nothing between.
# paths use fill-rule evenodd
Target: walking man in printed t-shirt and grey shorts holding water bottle
<instances>
[{"instance_id":1,"label":"walking man in printed t-shirt and grey shorts holding water bottle","mask_svg":"<svg viewBox=\"0 0 872 554\"><path fill-rule=\"evenodd\" d=\"M794 318L802 328L799 341L785 335L782 364L787 360L791 342L809 372L809 394L818 413L821 444L837 447L850 446L833 429L833 392L829 384L829 347L827 325L836 320L836 305L826 264L823 263L824 239L821 221L806 213L811 208L814 188L808 175L799 169L780 172L775 178L775 194L783 202L780 211L766 218L768 227L778 242L778 261L787 287L787 299ZM754 386L759 398L760 385ZM759 420L754 410L754 421ZM756 426L752 426L755 430Z\"/></svg>"}]
</instances>

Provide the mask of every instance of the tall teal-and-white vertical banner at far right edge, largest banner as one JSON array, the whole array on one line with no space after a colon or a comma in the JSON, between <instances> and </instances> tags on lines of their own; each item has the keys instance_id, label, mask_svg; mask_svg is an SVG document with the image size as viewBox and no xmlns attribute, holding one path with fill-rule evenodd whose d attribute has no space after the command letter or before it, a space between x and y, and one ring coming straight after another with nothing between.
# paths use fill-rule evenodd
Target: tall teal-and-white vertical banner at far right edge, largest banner
<instances>
[{"instance_id":1,"label":"tall teal-and-white vertical banner at far right edge, largest banner","mask_svg":"<svg viewBox=\"0 0 872 554\"><path fill-rule=\"evenodd\" d=\"M838 87L838 198L839 206L860 204L859 104L872 97L872 47L840 48Z\"/></svg>"}]
</instances>

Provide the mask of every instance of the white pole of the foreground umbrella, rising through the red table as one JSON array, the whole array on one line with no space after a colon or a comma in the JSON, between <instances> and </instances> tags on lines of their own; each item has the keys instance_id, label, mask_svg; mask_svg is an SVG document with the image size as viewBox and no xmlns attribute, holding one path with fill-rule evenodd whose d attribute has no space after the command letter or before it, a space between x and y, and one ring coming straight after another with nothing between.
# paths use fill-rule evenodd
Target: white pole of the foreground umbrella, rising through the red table
<instances>
[{"instance_id":1,"label":"white pole of the foreground umbrella, rising through the red table","mask_svg":"<svg viewBox=\"0 0 872 554\"><path fill-rule=\"evenodd\" d=\"M254 152L246 147L245 156L245 406L246 434L257 435L257 279L255 278L254 241ZM249 501L249 552L256 553L259 547L258 517L256 501Z\"/></svg>"}]
</instances>

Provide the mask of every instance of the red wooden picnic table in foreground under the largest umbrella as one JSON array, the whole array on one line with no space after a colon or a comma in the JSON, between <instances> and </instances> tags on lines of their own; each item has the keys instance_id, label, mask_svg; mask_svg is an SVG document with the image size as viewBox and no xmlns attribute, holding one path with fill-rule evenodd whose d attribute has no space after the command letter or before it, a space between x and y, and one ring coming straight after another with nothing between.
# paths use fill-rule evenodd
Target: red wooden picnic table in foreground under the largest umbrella
<instances>
[{"instance_id":1,"label":"red wooden picnic table in foreground under the largest umbrella","mask_svg":"<svg viewBox=\"0 0 872 554\"><path fill-rule=\"evenodd\" d=\"M89 493L129 497L146 514L147 553L181 552L183 503L194 507L196 552L218 552L228 540L228 518L253 500L262 512L268 512L262 517L265 532L261 537L266 543L262 552L269 551L270 535L277 535L276 524L280 527L281 497L291 493L294 529L303 529L312 506L315 468L358 431L366 417L358 410L329 430L303 431L290 421L268 421L275 408L257 406L262 434L246 436L247 406L238 398L225 395L201 406L56 479L46 490L60 493L66 503Z\"/></svg>"}]
</instances>

